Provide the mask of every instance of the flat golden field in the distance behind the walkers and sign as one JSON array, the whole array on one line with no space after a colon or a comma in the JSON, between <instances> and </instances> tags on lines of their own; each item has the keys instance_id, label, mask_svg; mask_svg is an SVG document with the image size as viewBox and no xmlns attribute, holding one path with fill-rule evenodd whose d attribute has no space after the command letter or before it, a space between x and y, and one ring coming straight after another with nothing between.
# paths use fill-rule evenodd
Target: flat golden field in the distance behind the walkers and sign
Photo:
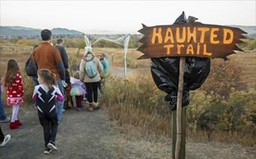
<instances>
[{"instance_id":1,"label":"flat golden field in the distance behind the walkers and sign","mask_svg":"<svg viewBox=\"0 0 256 159\"><path fill-rule=\"evenodd\" d=\"M0 46L0 74L1 77L4 76L4 72L7 66L8 59L16 59L23 69L25 66L25 61L32 51L32 46L20 46L11 43L1 43ZM84 50L78 50L78 48L66 48L69 56L69 66L76 64L84 54ZM111 66L124 66L124 49L122 48L93 48L93 52L97 55L100 52L106 53L106 58ZM114 54L114 56L112 56ZM137 68L150 68L150 59L137 60L142 56L140 51L136 51L135 48L130 48L127 51L127 67L132 69ZM247 82L252 88L256 89L256 51L250 52L238 52L232 54L232 57L236 58L237 64L242 66L244 81Z\"/></svg>"}]
</instances>

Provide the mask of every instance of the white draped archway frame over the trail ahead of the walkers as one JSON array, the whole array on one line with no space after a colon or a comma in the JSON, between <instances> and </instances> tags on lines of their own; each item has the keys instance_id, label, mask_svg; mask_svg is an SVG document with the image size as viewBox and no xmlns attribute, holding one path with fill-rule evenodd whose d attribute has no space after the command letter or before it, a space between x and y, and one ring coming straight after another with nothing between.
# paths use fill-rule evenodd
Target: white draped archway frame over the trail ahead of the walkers
<instances>
[{"instance_id":1,"label":"white draped archway frame over the trail ahead of the walkers","mask_svg":"<svg viewBox=\"0 0 256 159\"><path fill-rule=\"evenodd\" d=\"M130 36L131 36L130 34L127 34L127 35L122 35L116 39L111 39L108 37L96 37L93 35L84 35L86 46L93 46L95 43L97 43L100 40L108 40L113 43L118 43L121 46L124 46L124 77L127 77L127 49L129 45Z\"/></svg>"}]
</instances>

